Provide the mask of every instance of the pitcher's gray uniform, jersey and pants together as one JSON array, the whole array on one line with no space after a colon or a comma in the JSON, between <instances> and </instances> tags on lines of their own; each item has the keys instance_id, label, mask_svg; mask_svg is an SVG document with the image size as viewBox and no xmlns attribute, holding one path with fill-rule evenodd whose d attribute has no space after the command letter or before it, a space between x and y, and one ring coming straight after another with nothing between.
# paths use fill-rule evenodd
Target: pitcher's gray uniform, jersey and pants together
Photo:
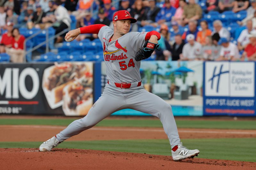
<instances>
[{"instance_id":1,"label":"pitcher's gray uniform, jersey and pants together","mask_svg":"<svg viewBox=\"0 0 256 170\"><path fill-rule=\"evenodd\" d=\"M56 138L64 140L92 128L98 122L112 113L131 108L143 113L154 115L163 124L164 132L172 147L180 143L177 126L172 114L172 107L163 99L146 91L140 80L140 62L135 61L135 54L142 48L145 42L145 32L132 32L123 35L118 40L110 41L113 30L103 26L98 34L102 42L104 59L107 68L107 78L115 83L136 84L131 88L122 89L115 84L106 84L100 98L93 104L88 114L79 120L72 122L68 127L56 135ZM137 86L138 85L138 86Z\"/></svg>"}]
</instances>

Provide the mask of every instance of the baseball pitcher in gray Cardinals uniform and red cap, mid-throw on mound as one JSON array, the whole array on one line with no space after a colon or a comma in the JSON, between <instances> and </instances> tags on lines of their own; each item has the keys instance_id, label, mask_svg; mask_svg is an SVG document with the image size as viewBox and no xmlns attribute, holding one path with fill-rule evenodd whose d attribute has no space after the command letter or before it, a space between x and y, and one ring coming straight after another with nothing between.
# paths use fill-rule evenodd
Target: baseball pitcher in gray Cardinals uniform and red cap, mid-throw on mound
<instances>
[{"instance_id":1,"label":"baseball pitcher in gray Cardinals uniform and red cap, mid-throw on mound","mask_svg":"<svg viewBox=\"0 0 256 170\"><path fill-rule=\"evenodd\" d=\"M113 16L114 31L106 25L96 24L66 34L68 41L73 41L81 33L98 34L103 46L108 83L88 114L41 144L40 151L51 151L64 140L92 128L112 113L130 108L160 119L171 144L173 160L193 158L199 154L197 149L189 150L182 146L172 107L141 85L140 61L150 57L158 48L160 34L156 31L129 33L131 23L136 21L128 11L122 10Z\"/></svg>"}]
</instances>

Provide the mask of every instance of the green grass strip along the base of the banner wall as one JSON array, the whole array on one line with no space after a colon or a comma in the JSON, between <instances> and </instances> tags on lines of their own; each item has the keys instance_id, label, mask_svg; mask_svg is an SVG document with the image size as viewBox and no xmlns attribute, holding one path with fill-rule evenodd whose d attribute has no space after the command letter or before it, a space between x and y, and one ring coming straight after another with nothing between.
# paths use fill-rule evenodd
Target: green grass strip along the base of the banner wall
<instances>
[{"instance_id":1,"label":"green grass strip along the base of the banner wall","mask_svg":"<svg viewBox=\"0 0 256 170\"><path fill-rule=\"evenodd\" d=\"M67 126L75 119L0 119L0 125L59 125ZM205 129L256 129L256 121L176 120L178 128ZM113 127L162 127L152 119L105 119L96 126Z\"/></svg>"}]
</instances>

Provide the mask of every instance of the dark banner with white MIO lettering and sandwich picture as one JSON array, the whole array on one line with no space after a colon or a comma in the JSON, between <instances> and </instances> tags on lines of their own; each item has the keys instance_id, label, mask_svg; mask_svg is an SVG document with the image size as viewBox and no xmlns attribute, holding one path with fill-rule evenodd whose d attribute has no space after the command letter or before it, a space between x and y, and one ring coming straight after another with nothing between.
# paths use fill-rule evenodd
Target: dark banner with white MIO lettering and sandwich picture
<instances>
[{"instance_id":1,"label":"dark banner with white MIO lettering and sandwich picture","mask_svg":"<svg viewBox=\"0 0 256 170\"><path fill-rule=\"evenodd\" d=\"M93 63L0 64L0 114L86 115Z\"/></svg>"}]
</instances>

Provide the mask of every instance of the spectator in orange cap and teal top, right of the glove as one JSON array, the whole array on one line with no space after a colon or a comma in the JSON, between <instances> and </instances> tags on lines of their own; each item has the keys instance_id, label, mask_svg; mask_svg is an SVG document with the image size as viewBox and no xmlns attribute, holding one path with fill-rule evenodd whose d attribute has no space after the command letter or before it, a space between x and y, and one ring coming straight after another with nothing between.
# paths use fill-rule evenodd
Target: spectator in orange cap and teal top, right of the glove
<instances>
[{"instance_id":1,"label":"spectator in orange cap and teal top, right of the glove","mask_svg":"<svg viewBox=\"0 0 256 170\"><path fill-rule=\"evenodd\" d=\"M160 34L161 34L161 38L158 41L160 50L156 50L156 60L168 61L171 56L171 46L168 42L170 33L167 25L162 24L160 26Z\"/></svg>"}]
</instances>

